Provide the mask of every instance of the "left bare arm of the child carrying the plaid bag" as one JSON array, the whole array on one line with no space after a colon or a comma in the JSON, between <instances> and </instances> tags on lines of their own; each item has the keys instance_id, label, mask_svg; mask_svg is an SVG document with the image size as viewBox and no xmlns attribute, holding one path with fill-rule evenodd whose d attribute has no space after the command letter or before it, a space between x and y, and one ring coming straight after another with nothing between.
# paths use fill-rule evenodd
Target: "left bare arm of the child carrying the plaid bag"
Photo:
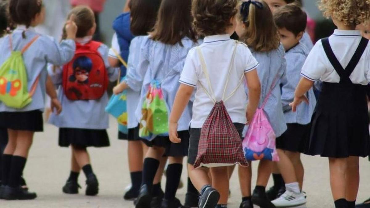
<instances>
[{"instance_id":1,"label":"left bare arm of the child carrying the plaid bag","mask_svg":"<svg viewBox=\"0 0 370 208\"><path fill-rule=\"evenodd\" d=\"M171 115L169 116L169 140L174 143L180 143L181 139L177 135L177 122L188 105L194 87L180 84L179 90L176 93L174 106L172 107Z\"/></svg>"}]
</instances>

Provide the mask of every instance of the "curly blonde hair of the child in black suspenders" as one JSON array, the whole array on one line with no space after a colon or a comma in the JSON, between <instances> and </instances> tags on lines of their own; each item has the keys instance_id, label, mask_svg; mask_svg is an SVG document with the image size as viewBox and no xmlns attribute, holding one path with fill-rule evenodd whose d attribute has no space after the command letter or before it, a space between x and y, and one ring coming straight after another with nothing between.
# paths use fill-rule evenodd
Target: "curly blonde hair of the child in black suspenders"
<instances>
[{"instance_id":1,"label":"curly blonde hair of the child in black suspenders","mask_svg":"<svg viewBox=\"0 0 370 208\"><path fill-rule=\"evenodd\" d=\"M370 0L320 0L324 16L342 21L345 25L357 25L370 18Z\"/></svg>"}]
</instances>

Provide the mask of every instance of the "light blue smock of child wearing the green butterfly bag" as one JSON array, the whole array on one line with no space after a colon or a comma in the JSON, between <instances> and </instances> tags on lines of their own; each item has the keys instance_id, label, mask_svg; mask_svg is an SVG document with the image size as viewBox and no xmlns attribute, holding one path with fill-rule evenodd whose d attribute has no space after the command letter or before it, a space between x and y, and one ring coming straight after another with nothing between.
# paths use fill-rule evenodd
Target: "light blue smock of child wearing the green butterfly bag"
<instances>
[{"instance_id":1,"label":"light blue smock of child wearing the green butterfly bag","mask_svg":"<svg viewBox=\"0 0 370 208\"><path fill-rule=\"evenodd\" d=\"M26 31L26 38L22 37L23 31ZM22 109L10 108L0 102L0 112L43 111L46 98L47 63L63 65L74 56L76 46L73 40L64 40L59 44L54 38L36 33L33 27L26 29L26 26L23 25L18 26L11 34L13 50L22 50L37 35L40 35L40 37L23 54L23 61L27 71L28 89L31 88L36 78L40 75L40 81L32 96L32 102ZM10 57L10 52L8 35L0 43L0 65Z\"/></svg>"}]
</instances>

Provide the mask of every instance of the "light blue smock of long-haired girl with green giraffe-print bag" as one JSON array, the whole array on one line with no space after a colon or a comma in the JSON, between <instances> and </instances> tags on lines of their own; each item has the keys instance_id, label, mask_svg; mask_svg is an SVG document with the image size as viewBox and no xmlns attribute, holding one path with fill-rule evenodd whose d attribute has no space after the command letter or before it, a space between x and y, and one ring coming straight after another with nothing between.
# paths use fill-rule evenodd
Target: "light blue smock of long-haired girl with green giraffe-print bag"
<instances>
[{"instance_id":1,"label":"light blue smock of long-haired girl with green giraffe-print bag","mask_svg":"<svg viewBox=\"0 0 370 208\"><path fill-rule=\"evenodd\" d=\"M136 73L143 78L143 82L140 84L139 81L136 81L130 84L130 87L133 89L141 88L140 101L135 113L138 120L141 118L141 106L147 94L148 87L154 79L159 82L162 81L161 87L168 106L168 115L170 114L177 90L180 86L179 79L186 56L191 48L198 46L198 43L194 43L187 37L183 38L181 43L183 46L179 43L172 46L154 41L148 36L144 38L140 50L139 64L136 68ZM130 83L129 79L127 83ZM191 107L192 104L189 103L179 119L178 131L189 129L189 123L192 118Z\"/></svg>"}]
</instances>

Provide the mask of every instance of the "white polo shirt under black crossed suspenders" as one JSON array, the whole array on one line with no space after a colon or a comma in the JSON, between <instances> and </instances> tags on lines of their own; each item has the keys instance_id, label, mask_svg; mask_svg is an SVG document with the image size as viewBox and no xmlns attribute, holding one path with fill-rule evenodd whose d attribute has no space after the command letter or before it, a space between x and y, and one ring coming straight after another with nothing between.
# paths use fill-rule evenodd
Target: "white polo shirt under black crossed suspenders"
<instances>
[{"instance_id":1,"label":"white polo shirt under black crossed suspenders","mask_svg":"<svg viewBox=\"0 0 370 208\"><path fill-rule=\"evenodd\" d=\"M333 49L343 68L346 68L353 57L359 43L361 34L358 30L335 30L329 37L330 46ZM370 45L370 43L369 43ZM352 72L350 80L353 84L367 85L370 81L370 47L367 46L359 63ZM302 68L301 75L312 81L321 80L329 83L339 83L340 77L334 70L326 56L321 40L317 41L308 55Z\"/></svg>"}]
</instances>

